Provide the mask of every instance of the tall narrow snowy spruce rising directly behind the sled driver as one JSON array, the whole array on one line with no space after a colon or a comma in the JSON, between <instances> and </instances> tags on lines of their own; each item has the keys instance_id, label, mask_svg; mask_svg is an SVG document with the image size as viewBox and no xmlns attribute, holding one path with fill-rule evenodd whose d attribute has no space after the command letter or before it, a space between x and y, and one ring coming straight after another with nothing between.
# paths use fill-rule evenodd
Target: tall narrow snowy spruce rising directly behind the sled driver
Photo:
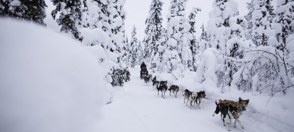
<instances>
[{"instance_id":1,"label":"tall narrow snowy spruce rising directly behind the sled driver","mask_svg":"<svg viewBox=\"0 0 294 132\"><path fill-rule=\"evenodd\" d=\"M145 55L146 61L151 63L151 68L156 67L155 55L158 52L156 43L160 39L160 30L162 28L162 5L161 0L152 0L150 4L149 15L145 21L145 37L143 44L145 45Z\"/></svg>"}]
</instances>

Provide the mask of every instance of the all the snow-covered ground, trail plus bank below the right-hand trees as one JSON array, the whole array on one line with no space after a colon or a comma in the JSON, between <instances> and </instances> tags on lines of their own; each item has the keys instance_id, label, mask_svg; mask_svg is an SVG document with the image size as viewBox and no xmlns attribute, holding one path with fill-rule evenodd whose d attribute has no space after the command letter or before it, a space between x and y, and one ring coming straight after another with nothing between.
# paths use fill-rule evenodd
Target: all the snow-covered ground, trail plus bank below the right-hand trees
<instances>
[{"instance_id":1,"label":"all the snow-covered ground, trail plus bank below the right-hand trees","mask_svg":"<svg viewBox=\"0 0 294 132\"><path fill-rule=\"evenodd\" d=\"M214 102L203 99L201 109L198 106L183 104L183 91L178 93L178 98L166 93L166 98L157 95L157 90L152 88L152 83L146 84L139 78L139 66L131 69L131 81L125 83L124 87L114 87L112 103L102 108L102 117L99 129L103 132L178 132L178 131L227 131L220 119L220 114L212 116L216 105ZM150 72L151 73L151 72ZM252 93L241 91L227 91L224 94L217 88L203 88L194 83L194 72L186 72L184 78L174 80L168 73L151 73L157 80L167 80L168 86L176 84L180 89L186 88L198 92L206 91L207 98L230 99L237 101L250 99L247 112L255 111L251 116L248 114L239 119L245 129L233 128L233 122L229 126L232 131L294 131L293 126L293 97L274 97L268 103L269 96L253 96ZM291 92L290 90L288 92ZM289 94L291 95L291 94ZM287 101L289 100L289 101Z\"/></svg>"}]
</instances>

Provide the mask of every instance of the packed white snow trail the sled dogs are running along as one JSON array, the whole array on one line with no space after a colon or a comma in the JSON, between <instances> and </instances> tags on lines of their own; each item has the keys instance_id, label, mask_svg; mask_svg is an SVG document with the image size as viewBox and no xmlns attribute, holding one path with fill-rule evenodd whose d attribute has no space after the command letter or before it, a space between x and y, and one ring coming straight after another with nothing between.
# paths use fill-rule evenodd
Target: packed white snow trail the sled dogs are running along
<instances>
[{"instance_id":1,"label":"packed white snow trail the sled dogs are running along","mask_svg":"<svg viewBox=\"0 0 294 132\"><path fill-rule=\"evenodd\" d=\"M183 104L182 91L178 98L170 96L169 91L166 98L162 98L161 93L157 95L157 89L152 88L152 83L146 84L139 78L139 71L138 66L131 69L131 81L124 87L115 87L112 102L102 109L101 132L227 131L220 114L212 117L216 108L214 102L203 99L201 109L198 106L190 109L189 104ZM232 131L275 131L248 117L240 117L245 129L238 123L234 128L234 121L229 126Z\"/></svg>"}]
</instances>

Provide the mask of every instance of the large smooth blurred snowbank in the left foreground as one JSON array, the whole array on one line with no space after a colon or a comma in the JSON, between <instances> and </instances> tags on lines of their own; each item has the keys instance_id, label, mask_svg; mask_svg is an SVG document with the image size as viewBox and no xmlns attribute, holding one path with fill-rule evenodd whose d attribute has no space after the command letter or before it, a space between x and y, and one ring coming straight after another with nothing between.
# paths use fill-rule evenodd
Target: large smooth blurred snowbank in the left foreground
<instances>
[{"instance_id":1,"label":"large smooth blurred snowbank in the left foreground","mask_svg":"<svg viewBox=\"0 0 294 132\"><path fill-rule=\"evenodd\" d=\"M97 58L34 24L0 19L0 29L0 131L97 131L107 85Z\"/></svg>"}]
</instances>

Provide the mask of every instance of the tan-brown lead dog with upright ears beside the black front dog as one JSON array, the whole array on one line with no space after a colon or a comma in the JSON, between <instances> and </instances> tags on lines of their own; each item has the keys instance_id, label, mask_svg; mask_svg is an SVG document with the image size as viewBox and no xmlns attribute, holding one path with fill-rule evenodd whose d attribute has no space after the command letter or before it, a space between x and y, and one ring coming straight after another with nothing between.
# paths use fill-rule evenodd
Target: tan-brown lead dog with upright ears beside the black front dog
<instances>
[{"instance_id":1,"label":"tan-brown lead dog with upright ears beside the black front dog","mask_svg":"<svg viewBox=\"0 0 294 132\"><path fill-rule=\"evenodd\" d=\"M234 127L236 126L236 123L238 122L241 126L242 129L244 129L244 126L242 125L241 121L239 120L239 117L243 115L244 111L246 111L246 107L248 106L249 99L243 100L242 98L239 97L239 101L230 101L230 100L220 100L220 103L225 103L227 106L231 105L234 107L237 107L238 110L236 112L236 116L234 116L235 122L234 122ZM222 114L220 114L220 118L222 118Z\"/></svg>"}]
</instances>

